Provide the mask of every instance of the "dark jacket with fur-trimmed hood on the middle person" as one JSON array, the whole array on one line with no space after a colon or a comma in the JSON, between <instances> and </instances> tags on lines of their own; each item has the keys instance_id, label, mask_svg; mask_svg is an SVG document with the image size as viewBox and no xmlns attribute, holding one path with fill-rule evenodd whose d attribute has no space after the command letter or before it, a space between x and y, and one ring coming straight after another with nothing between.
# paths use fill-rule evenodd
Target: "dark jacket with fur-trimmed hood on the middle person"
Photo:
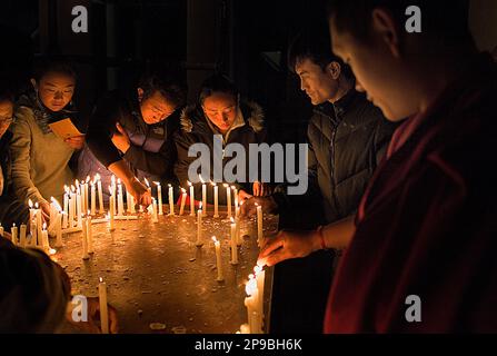
<instances>
[{"instance_id":1,"label":"dark jacket with fur-trimmed hood on the middle person","mask_svg":"<svg viewBox=\"0 0 497 356\"><path fill-rule=\"evenodd\" d=\"M240 144L245 148L246 152L246 181L249 180L249 144L266 142L267 131L264 122L264 112L259 105L251 101L241 101L240 110L243 117L242 126L233 128L227 139L223 140L222 148L228 144ZM203 180L209 182L213 180L213 135L215 132L210 125L207 122L207 118L203 115L202 109L199 106L189 106L181 113L181 130L175 135L176 148L178 151L178 161L175 166L175 174L180 181L180 186L188 191L188 168L193 162L196 157L188 157L188 149L193 144L205 144L210 149L210 177L202 177ZM222 170L227 162L231 160L230 157L222 157ZM225 181L226 179L223 179ZM237 189L243 189L247 192L251 192L251 184L246 181L230 182L231 186L236 186ZM197 200L201 199L201 184L196 184L195 195ZM219 186L219 184L218 184ZM210 184L207 185L208 201L213 201L213 189ZM188 191L189 192L189 191ZM232 198L231 198L232 199ZM219 204L226 204L226 188L222 184L219 186Z\"/></svg>"}]
</instances>

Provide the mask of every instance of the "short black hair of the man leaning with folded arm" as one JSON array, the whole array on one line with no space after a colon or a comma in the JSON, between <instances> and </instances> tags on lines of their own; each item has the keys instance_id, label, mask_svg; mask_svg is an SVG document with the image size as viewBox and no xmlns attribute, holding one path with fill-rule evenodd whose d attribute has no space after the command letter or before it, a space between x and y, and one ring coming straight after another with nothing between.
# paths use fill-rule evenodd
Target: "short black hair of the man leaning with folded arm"
<instances>
[{"instance_id":1,"label":"short black hair of the man leaning with folded arm","mask_svg":"<svg viewBox=\"0 0 497 356\"><path fill-rule=\"evenodd\" d=\"M158 91L177 107L187 102L186 85L172 72L148 71L141 76L138 87L143 90L143 99Z\"/></svg>"}]
</instances>

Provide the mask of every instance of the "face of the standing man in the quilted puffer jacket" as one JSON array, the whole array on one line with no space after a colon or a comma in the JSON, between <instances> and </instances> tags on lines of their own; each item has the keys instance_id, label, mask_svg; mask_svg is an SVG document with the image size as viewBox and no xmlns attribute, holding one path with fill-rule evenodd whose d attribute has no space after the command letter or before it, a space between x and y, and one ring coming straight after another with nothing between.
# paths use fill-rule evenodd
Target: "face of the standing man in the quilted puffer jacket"
<instances>
[{"instance_id":1,"label":"face of the standing man in the quilted puffer jacket","mask_svg":"<svg viewBox=\"0 0 497 356\"><path fill-rule=\"evenodd\" d=\"M300 89L306 91L312 105L324 103L337 95L338 80L310 59L297 61L295 71L300 78Z\"/></svg>"}]
</instances>

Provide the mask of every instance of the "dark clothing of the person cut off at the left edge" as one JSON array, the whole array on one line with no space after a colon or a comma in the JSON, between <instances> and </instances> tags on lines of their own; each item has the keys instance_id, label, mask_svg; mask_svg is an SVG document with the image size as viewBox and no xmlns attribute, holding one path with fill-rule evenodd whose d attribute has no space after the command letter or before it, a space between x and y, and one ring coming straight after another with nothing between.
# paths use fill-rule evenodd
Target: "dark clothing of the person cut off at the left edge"
<instances>
[{"instance_id":1,"label":"dark clothing of the person cut off at the left edge","mask_svg":"<svg viewBox=\"0 0 497 356\"><path fill-rule=\"evenodd\" d=\"M10 140L12 132L6 131L0 138L0 165L3 174L3 191L0 196L0 222L6 231L10 231L13 222L17 226L28 224L28 205L16 196L12 189Z\"/></svg>"}]
</instances>

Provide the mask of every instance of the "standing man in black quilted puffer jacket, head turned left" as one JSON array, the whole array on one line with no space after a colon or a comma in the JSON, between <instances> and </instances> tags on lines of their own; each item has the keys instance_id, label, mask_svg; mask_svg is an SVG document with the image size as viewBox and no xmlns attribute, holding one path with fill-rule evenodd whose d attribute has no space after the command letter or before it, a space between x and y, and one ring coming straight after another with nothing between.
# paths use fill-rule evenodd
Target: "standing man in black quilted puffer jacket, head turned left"
<instances>
[{"instance_id":1,"label":"standing man in black quilted puffer jacket, head turned left","mask_svg":"<svg viewBox=\"0 0 497 356\"><path fill-rule=\"evenodd\" d=\"M354 89L354 76L329 49L327 33L326 27L319 32L302 32L288 56L301 90L316 107L307 131L307 194L289 196L281 186L266 201L255 199L268 210L280 212L280 228L316 228L352 216L395 129L364 93ZM274 332L321 330L332 265L334 254L320 251L277 266Z\"/></svg>"}]
</instances>

